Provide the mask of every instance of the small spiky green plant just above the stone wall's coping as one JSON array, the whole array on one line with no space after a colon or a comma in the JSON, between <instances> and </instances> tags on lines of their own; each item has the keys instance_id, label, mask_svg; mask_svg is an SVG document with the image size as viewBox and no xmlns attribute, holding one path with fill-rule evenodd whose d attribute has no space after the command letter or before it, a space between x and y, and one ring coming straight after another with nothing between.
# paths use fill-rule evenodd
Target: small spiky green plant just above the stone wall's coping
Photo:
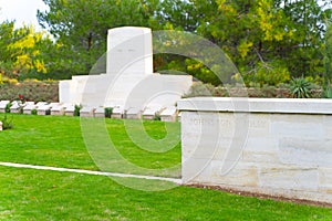
<instances>
[{"instance_id":1,"label":"small spiky green plant just above the stone wall's coping","mask_svg":"<svg viewBox=\"0 0 332 221\"><path fill-rule=\"evenodd\" d=\"M311 97L312 84L304 77L292 78L290 82L290 90L292 96L295 98L309 98Z\"/></svg>"}]
</instances>

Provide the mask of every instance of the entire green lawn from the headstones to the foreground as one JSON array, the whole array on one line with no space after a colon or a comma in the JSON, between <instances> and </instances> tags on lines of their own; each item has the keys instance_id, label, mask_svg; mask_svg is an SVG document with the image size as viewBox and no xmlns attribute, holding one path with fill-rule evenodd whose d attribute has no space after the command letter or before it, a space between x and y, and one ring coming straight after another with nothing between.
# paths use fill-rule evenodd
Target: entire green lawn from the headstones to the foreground
<instances>
[{"instance_id":1,"label":"entire green lawn from the headstones to the foreground","mask_svg":"<svg viewBox=\"0 0 332 221\"><path fill-rule=\"evenodd\" d=\"M84 145L79 117L13 117L14 129L0 133L0 161L98 170ZM151 152L153 147L143 150L131 141L124 123L107 119L106 129L127 161L152 169L180 162L179 144L163 154ZM179 135L179 124L172 125ZM164 123L145 122L144 126L156 140L166 136ZM135 129L138 127L134 125ZM121 164L113 169L133 172ZM139 191L103 176L8 167L0 167L0 220L332 220L328 208L216 190L177 187ZM169 185L133 178L116 180L152 189Z\"/></svg>"}]
</instances>

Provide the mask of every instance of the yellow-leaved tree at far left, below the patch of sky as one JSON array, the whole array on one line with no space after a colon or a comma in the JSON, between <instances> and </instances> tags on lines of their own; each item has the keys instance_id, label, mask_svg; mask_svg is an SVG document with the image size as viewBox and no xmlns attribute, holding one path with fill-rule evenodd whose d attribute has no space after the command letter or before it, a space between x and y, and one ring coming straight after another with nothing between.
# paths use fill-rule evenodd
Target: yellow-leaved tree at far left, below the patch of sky
<instances>
[{"instance_id":1,"label":"yellow-leaved tree at far left, below the patch of sky","mask_svg":"<svg viewBox=\"0 0 332 221\"><path fill-rule=\"evenodd\" d=\"M14 29L14 22L0 24L0 71L10 77L48 72L44 54L53 42L45 32L35 32L32 25Z\"/></svg>"}]
</instances>

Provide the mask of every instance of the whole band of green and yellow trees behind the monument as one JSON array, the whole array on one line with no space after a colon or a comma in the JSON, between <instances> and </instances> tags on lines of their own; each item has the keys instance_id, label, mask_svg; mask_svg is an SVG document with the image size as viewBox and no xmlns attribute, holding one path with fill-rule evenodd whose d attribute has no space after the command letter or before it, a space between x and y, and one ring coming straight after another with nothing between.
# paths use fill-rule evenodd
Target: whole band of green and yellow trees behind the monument
<instances>
[{"instance_id":1,"label":"whole band of green and yellow trees behind the monument","mask_svg":"<svg viewBox=\"0 0 332 221\"><path fill-rule=\"evenodd\" d=\"M107 30L133 25L179 30L206 38L235 62L247 85L278 85L290 77L322 76L323 72L325 82L331 80L331 28L328 25L326 30L325 24L332 19L332 3L328 0L43 2L49 10L39 11L38 20L54 40L32 27L15 30L13 22L1 23L2 77L59 80L87 74L106 51ZM176 43L181 41L185 40L177 39ZM215 70L221 70L221 63ZM216 76L210 67L179 55L155 55L154 65L156 72L177 70L215 86L234 83L231 76Z\"/></svg>"}]
</instances>

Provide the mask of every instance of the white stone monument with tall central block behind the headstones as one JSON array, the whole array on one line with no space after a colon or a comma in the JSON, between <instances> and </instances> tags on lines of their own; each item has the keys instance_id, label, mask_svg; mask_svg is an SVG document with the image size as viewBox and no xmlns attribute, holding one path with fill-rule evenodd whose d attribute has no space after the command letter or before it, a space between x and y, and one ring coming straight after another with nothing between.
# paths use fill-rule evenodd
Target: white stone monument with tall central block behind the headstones
<instances>
[{"instance_id":1,"label":"white stone monument with tall central block behind the headstones","mask_svg":"<svg viewBox=\"0 0 332 221\"><path fill-rule=\"evenodd\" d=\"M193 84L189 75L153 73L148 28L108 30L106 73L60 82L60 103L138 108L174 106Z\"/></svg>"}]
</instances>

